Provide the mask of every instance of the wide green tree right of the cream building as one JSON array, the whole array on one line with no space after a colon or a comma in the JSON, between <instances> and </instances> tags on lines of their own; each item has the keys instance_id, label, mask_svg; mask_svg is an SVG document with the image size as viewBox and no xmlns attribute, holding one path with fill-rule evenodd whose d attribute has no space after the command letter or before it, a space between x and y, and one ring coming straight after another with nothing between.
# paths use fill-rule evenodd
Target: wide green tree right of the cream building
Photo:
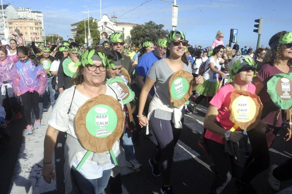
<instances>
[{"instance_id":1,"label":"wide green tree right of the cream building","mask_svg":"<svg viewBox=\"0 0 292 194\"><path fill-rule=\"evenodd\" d=\"M139 45L145 39L155 41L158 36L167 35L168 30L163 30L163 27L163 24L156 24L153 21L134 26L130 31L132 44Z\"/></svg>"}]
</instances>

